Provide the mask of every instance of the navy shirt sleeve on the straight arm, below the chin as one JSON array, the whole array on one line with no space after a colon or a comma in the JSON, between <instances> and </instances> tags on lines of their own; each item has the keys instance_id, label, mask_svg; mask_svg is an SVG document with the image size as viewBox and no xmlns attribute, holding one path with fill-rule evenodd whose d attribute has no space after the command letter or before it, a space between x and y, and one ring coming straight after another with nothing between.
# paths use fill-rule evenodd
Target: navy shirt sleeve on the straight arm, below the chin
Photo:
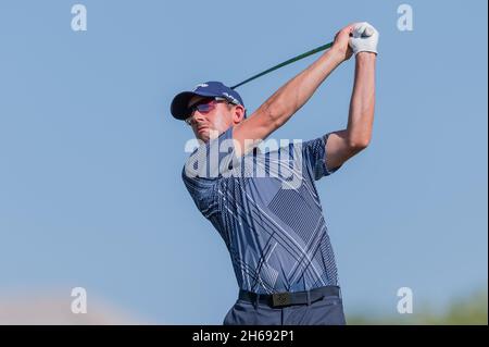
<instances>
[{"instance_id":1,"label":"navy shirt sleeve on the straight arm, below the chin","mask_svg":"<svg viewBox=\"0 0 489 347\"><path fill-rule=\"evenodd\" d=\"M209 218L218 209L216 183L228 172L234 156L233 127L199 146L187 160L181 178L200 212Z\"/></svg>"}]
</instances>

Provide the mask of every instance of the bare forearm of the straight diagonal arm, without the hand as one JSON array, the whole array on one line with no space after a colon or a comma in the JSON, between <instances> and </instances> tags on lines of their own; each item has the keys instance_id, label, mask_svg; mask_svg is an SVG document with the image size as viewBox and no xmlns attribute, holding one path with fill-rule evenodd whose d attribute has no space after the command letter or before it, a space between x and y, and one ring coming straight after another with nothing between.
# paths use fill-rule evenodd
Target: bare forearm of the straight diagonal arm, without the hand
<instances>
[{"instance_id":1,"label":"bare forearm of the straight diagonal arm, without the hand","mask_svg":"<svg viewBox=\"0 0 489 347\"><path fill-rule=\"evenodd\" d=\"M335 50L328 50L281 86L261 106L261 111L268 114L275 128L278 128L312 97L317 87L341 62L341 57Z\"/></svg>"}]
</instances>

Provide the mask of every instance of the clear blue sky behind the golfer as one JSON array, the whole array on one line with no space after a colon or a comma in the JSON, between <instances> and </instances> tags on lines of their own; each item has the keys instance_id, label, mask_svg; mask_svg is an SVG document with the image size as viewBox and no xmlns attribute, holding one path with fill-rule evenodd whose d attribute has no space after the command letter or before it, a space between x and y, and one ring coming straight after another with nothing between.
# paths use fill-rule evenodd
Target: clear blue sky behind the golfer
<instances>
[{"instance_id":1,"label":"clear blue sky behind the golfer","mask_svg":"<svg viewBox=\"0 0 489 347\"><path fill-rule=\"evenodd\" d=\"M237 284L180 181L176 92L238 83L354 21L380 32L371 146L318 182L349 312L487 286L487 2L0 2L0 293L83 286L154 323L221 324ZM317 55L239 89L250 111ZM274 137L343 128L353 59ZM88 302L88 306L90 301Z\"/></svg>"}]
</instances>

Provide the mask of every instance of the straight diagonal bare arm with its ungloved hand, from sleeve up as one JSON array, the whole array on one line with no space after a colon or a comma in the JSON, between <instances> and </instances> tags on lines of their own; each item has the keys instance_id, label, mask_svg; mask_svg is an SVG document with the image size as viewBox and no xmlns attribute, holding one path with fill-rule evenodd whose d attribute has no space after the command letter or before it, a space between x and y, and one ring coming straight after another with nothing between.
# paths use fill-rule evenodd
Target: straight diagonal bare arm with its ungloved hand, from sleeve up
<instances>
[{"instance_id":1,"label":"straight diagonal bare arm with its ungloved hand, from sleeve up","mask_svg":"<svg viewBox=\"0 0 489 347\"><path fill-rule=\"evenodd\" d=\"M235 126L233 138L250 149L250 140L265 139L271 133L284 125L314 94L326 77L343 61L351 57L348 46L352 25L343 28L341 41L338 33L335 44L313 64L281 86L250 117Z\"/></svg>"}]
</instances>

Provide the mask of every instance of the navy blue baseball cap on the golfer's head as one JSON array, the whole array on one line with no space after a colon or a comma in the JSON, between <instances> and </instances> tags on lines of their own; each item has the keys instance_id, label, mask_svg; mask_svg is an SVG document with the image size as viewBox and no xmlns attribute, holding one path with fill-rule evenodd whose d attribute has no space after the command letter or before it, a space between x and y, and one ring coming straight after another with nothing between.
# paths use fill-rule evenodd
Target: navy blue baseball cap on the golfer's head
<instances>
[{"instance_id":1,"label":"navy blue baseball cap on the golfer's head","mask_svg":"<svg viewBox=\"0 0 489 347\"><path fill-rule=\"evenodd\" d=\"M172 101L171 111L177 120L185 120L188 116L188 102L195 96L201 97L221 97L227 99L230 103L244 107L241 97L234 89L225 86L221 82L205 82L197 85L191 91L178 94Z\"/></svg>"}]
</instances>

